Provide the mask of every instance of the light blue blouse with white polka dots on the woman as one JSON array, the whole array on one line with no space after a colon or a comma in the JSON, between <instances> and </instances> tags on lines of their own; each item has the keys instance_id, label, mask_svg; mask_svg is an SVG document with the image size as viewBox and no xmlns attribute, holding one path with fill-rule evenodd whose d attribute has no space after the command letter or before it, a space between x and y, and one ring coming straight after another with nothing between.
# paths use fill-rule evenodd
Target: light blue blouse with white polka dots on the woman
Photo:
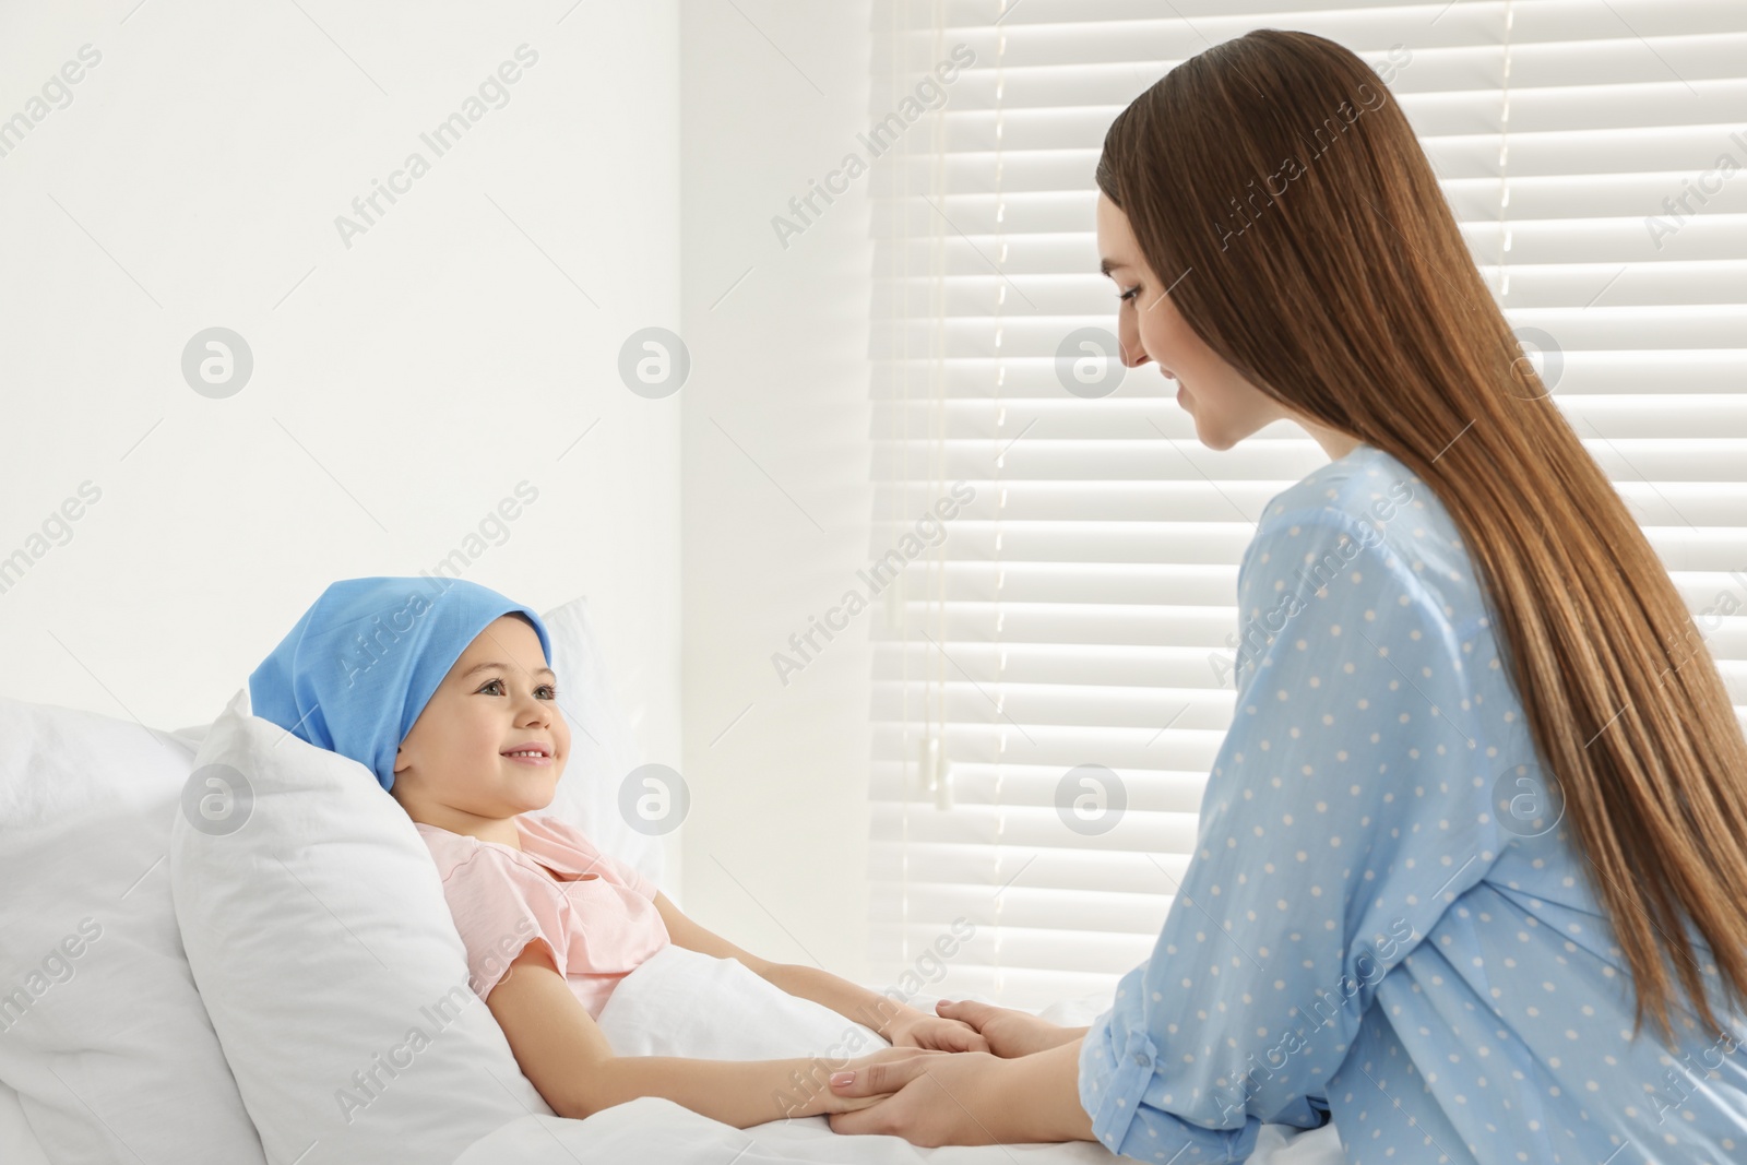
<instances>
[{"instance_id":1,"label":"light blue blouse with white polka dots on the woman","mask_svg":"<svg viewBox=\"0 0 1747 1165\"><path fill-rule=\"evenodd\" d=\"M1081 1048L1097 1139L1242 1162L1333 1116L1352 1165L1747 1162L1747 1017L1714 994L1721 1039L1684 1001L1675 1050L1632 1037L1600 875L1431 487L1361 444L1268 503L1237 594L1195 854Z\"/></svg>"}]
</instances>

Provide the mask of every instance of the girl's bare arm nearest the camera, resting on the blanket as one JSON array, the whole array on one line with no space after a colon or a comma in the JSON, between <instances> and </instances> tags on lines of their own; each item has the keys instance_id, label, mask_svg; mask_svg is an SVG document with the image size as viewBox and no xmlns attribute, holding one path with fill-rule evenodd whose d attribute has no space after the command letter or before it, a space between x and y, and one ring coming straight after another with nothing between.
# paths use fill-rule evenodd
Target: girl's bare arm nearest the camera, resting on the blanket
<instances>
[{"instance_id":1,"label":"girl's bare arm nearest the camera, resting on the blanket","mask_svg":"<svg viewBox=\"0 0 1747 1165\"><path fill-rule=\"evenodd\" d=\"M735 1128L788 1116L849 1113L872 1104L832 1095L821 1060L687 1060L620 1057L557 973L543 943L529 943L486 996L522 1076L559 1116L587 1118L638 1097L666 1097ZM882 1050L847 1067L919 1055Z\"/></svg>"}]
</instances>

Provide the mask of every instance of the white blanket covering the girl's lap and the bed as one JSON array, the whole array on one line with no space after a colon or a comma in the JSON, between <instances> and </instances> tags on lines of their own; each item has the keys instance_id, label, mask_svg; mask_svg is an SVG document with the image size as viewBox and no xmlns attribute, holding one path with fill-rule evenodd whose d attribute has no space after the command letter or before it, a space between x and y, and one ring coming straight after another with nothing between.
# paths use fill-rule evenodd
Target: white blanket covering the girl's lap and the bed
<instances>
[{"instance_id":1,"label":"white blanket covering the girl's lap and the bed","mask_svg":"<svg viewBox=\"0 0 1747 1165\"><path fill-rule=\"evenodd\" d=\"M933 999L914 999L933 1008ZM1076 999L1043 1015L1066 1025L1095 1018L1099 1001ZM601 1031L618 1055L685 1055L715 1060L865 1055L887 1046L872 1031L830 1008L772 987L734 959L667 947L627 975L601 1011ZM1108 1165L1120 1158L1101 1144L1020 1144L917 1149L896 1137L833 1134L823 1116L774 1120L739 1130L669 1100L646 1097L589 1120L524 1116L503 1125L454 1165ZM1343 1165L1335 1127L1300 1130L1265 1125L1254 1165Z\"/></svg>"}]
</instances>

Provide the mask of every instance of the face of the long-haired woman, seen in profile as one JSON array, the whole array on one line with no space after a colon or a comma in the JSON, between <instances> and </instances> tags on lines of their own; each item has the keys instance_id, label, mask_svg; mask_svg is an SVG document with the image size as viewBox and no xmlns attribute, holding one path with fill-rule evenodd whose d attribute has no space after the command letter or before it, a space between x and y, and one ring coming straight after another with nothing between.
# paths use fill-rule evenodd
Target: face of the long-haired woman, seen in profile
<instances>
[{"instance_id":1,"label":"face of the long-haired woman, seen in profile","mask_svg":"<svg viewBox=\"0 0 1747 1165\"><path fill-rule=\"evenodd\" d=\"M1155 363L1177 383L1177 403L1195 417L1195 437L1204 445L1230 449L1270 421L1291 416L1214 355L1183 320L1170 300L1172 283L1146 265L1129 215L1102 192L1097 196L1097 250L1104 274L1115 279L1122 295L1116 311L1122 362L1130 369Z\"/></svg>"}]
</instances>

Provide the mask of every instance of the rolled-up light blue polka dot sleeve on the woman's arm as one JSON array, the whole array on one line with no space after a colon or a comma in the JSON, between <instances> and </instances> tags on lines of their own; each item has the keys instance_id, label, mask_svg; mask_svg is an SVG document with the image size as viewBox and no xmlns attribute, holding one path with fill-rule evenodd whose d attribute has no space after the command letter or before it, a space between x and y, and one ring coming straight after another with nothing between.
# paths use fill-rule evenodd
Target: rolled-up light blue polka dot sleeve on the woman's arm
<instances>
[{"instance_id":1,"label":"rolled-up light blue polka dot sleeve on the woman's arm","mask_svg":"<svg viewBox=\"0 0 1747 1165\"><path fill-rule=\"evenodd\" d=\"M1324 1123L1377 983L1490 868L1497 762L1445 611L1350 514L1258 529L1195 854L1080 1053L1080 1102L1113 1153L1242 1162L1263 1123Z\"/></svg>"}]
</instances>

